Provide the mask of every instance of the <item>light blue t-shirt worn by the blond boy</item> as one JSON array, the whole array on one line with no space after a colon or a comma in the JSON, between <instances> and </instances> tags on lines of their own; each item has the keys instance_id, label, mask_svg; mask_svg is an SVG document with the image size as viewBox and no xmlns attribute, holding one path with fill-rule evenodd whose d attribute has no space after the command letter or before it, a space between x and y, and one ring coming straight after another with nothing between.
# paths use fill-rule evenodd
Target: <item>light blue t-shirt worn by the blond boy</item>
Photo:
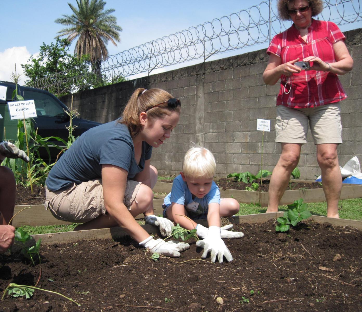
<instances>
[{"instance_id":1,"label":"light blue t-shirt worn by the blond boy","mask_svg":"<svg viewBox=\"0 0 362 312\"><path fill-rule=\"evenodd\" d=\"M182 180L181 174L174 178L171 193L164 199L164 206L168 207L171 203L177 203L185 206L190 216L202 215L210 203L220 203L220 190L214 181L212 181L211 189L203 198L192 198L187 183Z\"/></svg>"}]
</instances>

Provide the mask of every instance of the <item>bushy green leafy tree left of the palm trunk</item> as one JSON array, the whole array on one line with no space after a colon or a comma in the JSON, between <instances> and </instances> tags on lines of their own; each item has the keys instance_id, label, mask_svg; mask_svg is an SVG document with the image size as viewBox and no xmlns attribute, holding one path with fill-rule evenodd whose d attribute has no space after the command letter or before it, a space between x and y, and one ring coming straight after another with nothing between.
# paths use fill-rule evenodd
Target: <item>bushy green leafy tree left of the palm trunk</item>
<instances>
[{"instance_id":1,"label":"bushy green leafy tree left of the palm trunk","mask_svg":"<svg viewBox=\"0 0 362 312\"><path fill-rule=\"evenodd\" d=\"M56 39L56 43L43 45L37 57L30 56L28 64L21 64L29 80L26 85L46 89L58 96L78 90L86 90L96 84L96 77L89 68L89 55L80 59L70 54L70 42Z\"/></svg>"}]
</instances>

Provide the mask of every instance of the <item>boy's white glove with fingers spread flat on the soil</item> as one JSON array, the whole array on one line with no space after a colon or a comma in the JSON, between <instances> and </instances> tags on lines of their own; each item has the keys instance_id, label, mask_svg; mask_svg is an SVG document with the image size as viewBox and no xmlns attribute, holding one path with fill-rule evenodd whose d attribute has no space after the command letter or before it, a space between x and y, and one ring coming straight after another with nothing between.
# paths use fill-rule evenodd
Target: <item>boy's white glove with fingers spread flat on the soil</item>
<instances>
[{"instance_id":1,"label":"boy's white glove with fingers spread flat on the soil","mask_svg":"<svg viewBox=\"0 0 362 312\"><path fill-rule=\"evenodd\" d=\"M231 253L221 239L220 232L221 230L219 227L211 225L206 238L196 242L196 246L201 247L204 250L201 258L206 258L207 254L211 252L211 262L216 261L216 256L218 257L219 263L223 262L223 256L225 256L227 261L232 261Z\"/></svg>"}]
</instances>

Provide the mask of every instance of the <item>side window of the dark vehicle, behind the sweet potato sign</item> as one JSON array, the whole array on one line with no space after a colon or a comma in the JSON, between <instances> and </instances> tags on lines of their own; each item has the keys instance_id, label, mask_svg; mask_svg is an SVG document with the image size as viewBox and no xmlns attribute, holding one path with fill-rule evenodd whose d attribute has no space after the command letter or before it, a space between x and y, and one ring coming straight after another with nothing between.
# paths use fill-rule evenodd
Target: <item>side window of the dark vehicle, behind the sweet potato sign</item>
<instances>
[{"instance_id":1,"label":"side window of the dark vehicle, behind the sweet potato sign","mask_svg":"<svg viewBox=\"0 0 362 312\"><path fill-rule=\"evenodd\" d=\"M24 100L34 100L38 117L63 117L64 110L59 103L48 94L37 91L24 91Z\"/></svg>"}]
</instances>

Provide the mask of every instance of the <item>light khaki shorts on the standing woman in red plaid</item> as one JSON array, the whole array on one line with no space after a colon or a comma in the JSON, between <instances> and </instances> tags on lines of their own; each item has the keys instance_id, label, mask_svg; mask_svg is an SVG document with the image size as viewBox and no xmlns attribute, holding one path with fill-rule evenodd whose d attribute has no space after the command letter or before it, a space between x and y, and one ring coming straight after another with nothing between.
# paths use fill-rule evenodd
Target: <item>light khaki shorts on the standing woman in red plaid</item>
<instances>
[{"instance_id":1,"label":"light khaki shorts on the standing woman in red plaid","mask_svg":"<svg viewBox=\"0 0 362 312\"><path fill-rule=\"evenodd\" d=\"M308 122L314 144L342 143L341 106L336 103L303 109L278 105L275 142L306 144Z\"/></svg>"}]
</instances>

